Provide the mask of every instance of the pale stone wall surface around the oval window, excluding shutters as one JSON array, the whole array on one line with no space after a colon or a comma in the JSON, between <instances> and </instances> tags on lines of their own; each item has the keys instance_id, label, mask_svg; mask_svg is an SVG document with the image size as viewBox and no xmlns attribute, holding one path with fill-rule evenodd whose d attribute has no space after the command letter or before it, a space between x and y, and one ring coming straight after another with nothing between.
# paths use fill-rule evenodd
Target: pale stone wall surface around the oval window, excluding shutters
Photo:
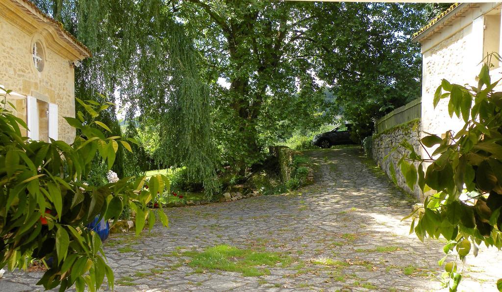
<instances>
[{"instance_id":1,"label":"pale stone wall surface around the oval window, excluding shutters","mask_svg":"<svg viewBox=\"0 0 502 292\"><path fill-rule=\"evenodd\" d=\"M61 47L57 37L40 24L30 23L14 7L0 3L0 84L25 96L58 105L58 138L73 142L75 129L65 116L75 117L74 56ZM39 72L32 58L34 42L40 42L45 64ZM26 99L15 100L16 115L26 121ZM26 134L26 131L25 133Z\"/></svg>"}]
</instances>

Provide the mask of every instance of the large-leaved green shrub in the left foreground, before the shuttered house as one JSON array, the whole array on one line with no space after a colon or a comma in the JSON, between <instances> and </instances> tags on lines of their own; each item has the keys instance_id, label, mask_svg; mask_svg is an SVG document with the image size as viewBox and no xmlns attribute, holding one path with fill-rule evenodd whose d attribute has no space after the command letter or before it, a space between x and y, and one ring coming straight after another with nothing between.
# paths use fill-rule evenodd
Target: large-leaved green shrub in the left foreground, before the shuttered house
<instances>
[{"instance_id":1,"label":"large-leaved green shrub in the left foreground, before the shuttered house","mask_svg":"<svg viewBox=\"0 0 502 292\"><path fill-rule=\"evenodd\" d=\"M119 147L130 149L132 139L107 136L106 125L98 122L108 104L94 101L77 102L91 117L85 120L66 117L80 135L72 144L64 141L30 141L22 136L26 124L6 110L3 96L0 108L0 266L9 270L27 268L32 259L54 259L38 284L46 289L60 286L65 290L75 284L97 290L106 276L113 287L113 273L104 259L101 239L85 226L95 216L104 220L118 219L123 206L136 211L137 234L148 218L155 215L146 208L148 202L169 181L157 176L150 179L151 191L142 190L144 178L123 178L104 185L86 185L92 160L98 155L110 170ZM159 212L167 225L167 217ZM150 225L150 228L152 226Z\"/></svg>"}]
</instances>

